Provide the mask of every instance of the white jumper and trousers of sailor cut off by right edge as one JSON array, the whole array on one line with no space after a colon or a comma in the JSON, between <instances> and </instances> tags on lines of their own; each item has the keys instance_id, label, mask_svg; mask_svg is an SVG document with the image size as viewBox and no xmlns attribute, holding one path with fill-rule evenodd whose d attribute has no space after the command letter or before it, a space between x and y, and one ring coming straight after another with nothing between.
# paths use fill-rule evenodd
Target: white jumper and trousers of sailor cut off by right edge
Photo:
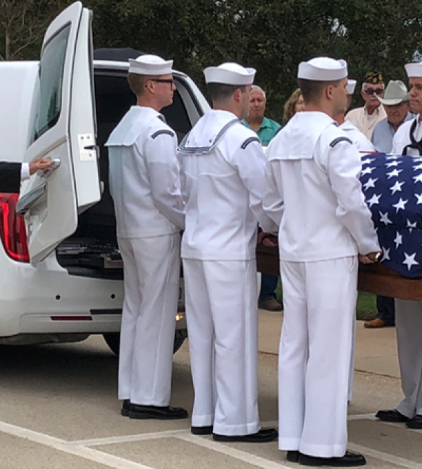
<instances>
[{"instance_id":1,"label":"white jumper and trousers of sailor cut off by right edge","mask_svg":"<svg viewBox=\"0 0 422 469\"><path fill-rule=\"evenodd\" d=\"M422 155L422 123L403 123L393 139L393 154ZM409 417L422 415L422 301L394 300L401 388L405 399L397 410Z\"/></svg>"}]
</instances>

